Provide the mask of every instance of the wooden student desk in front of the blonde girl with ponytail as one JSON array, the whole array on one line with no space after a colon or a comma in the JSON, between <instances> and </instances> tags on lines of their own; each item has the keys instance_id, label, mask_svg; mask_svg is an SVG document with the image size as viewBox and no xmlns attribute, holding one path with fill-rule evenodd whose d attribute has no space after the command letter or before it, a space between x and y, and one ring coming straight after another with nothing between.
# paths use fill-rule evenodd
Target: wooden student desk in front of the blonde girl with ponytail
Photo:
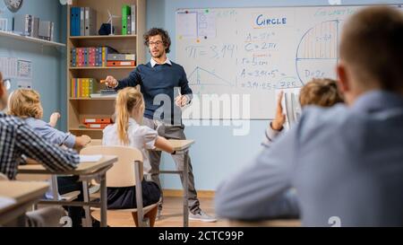
<instances>
[{"instance_id":1,"label":"wooden student desk in front of the blonde girl with ponytail","mask_svg":"<svg viewBox=\"0 0 403 245\"><path fill-rule=\"evenodd\" d=\"M172 146L174 147L174 151L176 154L184 154L189 151L189 148L194 144L194 140L178 140L178 139L169 139L168 140ZM157 151L160 151L157 149ZM184 154L184 163L187 161L188 154ZM183 171L159 171L159 173L168 173L168 174L184 174L184 227L189 226L189 208L188 208L188 200L187 200L187 191L189 188L189 166L188 164L184 164Z\"/></svg>"}]
</instances>

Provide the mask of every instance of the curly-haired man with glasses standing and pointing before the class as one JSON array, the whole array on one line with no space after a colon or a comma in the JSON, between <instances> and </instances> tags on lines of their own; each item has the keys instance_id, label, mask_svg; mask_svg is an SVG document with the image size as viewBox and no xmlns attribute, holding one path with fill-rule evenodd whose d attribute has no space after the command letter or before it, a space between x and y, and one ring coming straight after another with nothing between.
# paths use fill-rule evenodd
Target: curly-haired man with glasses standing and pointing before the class
<instances>
[{"instance_id":1,"label":"curly-haired man with glasses standing and pointing before the class","mask_svg":"<svg viewBox=\"0 0 403 245\"><path fill-rule=\"evenodd\" d=\"M128 77L119 81L108 75L107 86L117 91L128 86L140 85L145 101L144 125L157 130L159 136L164 136L167 139L185 139L180 108L190 102L193 94L184 73L184 67L167 58L171 46L171 39L167 31L159 28L150 29L144 34L144 44L149 48L150 62L137 66ZM149 153L151 180L155 181L161 188L159 181L161 152L149 151ZM183 169L184 155L174 154L172 157L176 162L176 169ZM201 211L197 192L194 188L192 163L190 157L186 157L186 159L189 166L188 207L191 213L189 219L216 222L215 218ZM181 174L180 177L184 186L184 176ZM161 210L162 201L159 203L159 214Z\"/></svg>"}]
</instances>

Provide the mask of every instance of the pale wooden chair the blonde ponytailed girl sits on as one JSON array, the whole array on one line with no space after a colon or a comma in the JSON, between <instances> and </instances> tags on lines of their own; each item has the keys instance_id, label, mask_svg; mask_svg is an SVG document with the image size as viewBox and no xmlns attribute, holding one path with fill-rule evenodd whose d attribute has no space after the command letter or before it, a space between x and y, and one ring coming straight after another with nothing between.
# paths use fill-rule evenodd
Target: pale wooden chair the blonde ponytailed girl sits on
<instances>
[{"instance_id":1,"label":"pale wooden chair the blonde ponytailed girl sits on","mask_svg":"<svg viewBox=\"0 0 403 245\"><path fill-rule=\"evenodd\" d=\"M144 216L145 214L150 214L146 216L149 216L150 218L150 226L154 225L158 202L150 206L142 206L142 154L138 149L128 146L94 145L83 148L81 154L116 155L118 159L117 162L109 171L107 171L107 187L123 188L135 186L137 208L114 209L108 211L124 211L132 213L134 223L136 223L137 226L144 226Z\"/></svg>"}]
</instances>

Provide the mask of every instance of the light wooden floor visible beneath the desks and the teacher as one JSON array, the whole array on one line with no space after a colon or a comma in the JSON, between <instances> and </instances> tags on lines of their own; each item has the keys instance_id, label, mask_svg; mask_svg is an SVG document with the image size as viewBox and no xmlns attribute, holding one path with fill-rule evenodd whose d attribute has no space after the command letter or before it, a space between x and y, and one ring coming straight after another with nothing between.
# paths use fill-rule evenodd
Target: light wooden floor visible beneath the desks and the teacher
<instances>
[{"instance_id":1,"label":"light wooden floor visible beneath the desks and the teacher","mask_svg":"<svg viewBox=\"0 0 403 245\"><path fill-rule=\"evenodd\" d=\"M156 227L181 227L183 226L183 202L182 197L165 197L162 216L156 221ZM200 198L201 209L207 214L214 215L213 198ZM99 211L94 211L92 215L99 219ZM127 212L112 211L107 212L107 224L111 227L134 227L132 214ZM226 226L248 226L248 223L228 223L219 220L216 223L206 223L200 221L189 221L191 227L226 227ZM270 223L254 223L253 226L299 226L298 221L271 221Z\"/></svg>"}]
</instances>

